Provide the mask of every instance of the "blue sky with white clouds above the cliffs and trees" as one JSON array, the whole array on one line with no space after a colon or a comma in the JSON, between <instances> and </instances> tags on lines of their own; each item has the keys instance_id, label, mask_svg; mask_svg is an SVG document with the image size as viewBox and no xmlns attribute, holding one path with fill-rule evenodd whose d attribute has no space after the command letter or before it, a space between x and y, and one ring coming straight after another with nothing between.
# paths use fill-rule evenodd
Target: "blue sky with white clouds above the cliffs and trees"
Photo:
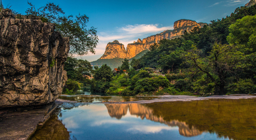
<instances>
[{"instance_id":1,"label":"blue sky with white clouds above the cliffs and trees","mask_svg":"<svg viewBox=\"0 0 256 140\"><path fill-rule=\"evenodd\" d=\"M25 14L29 5L27 0L2 0L3 5ZM47 2L59 5L68 15L86 14L89 17L88 28L97 28L99 43L96 54L82 57L89 61L97 60L104 54L108 42L119 40L125 48L138 38L173 29L179 19L191 19L207 22L230 15L234 9L244 6L249 0L180 0L180 1L82 1L82 0L30 0L36 8ZM80 57L78 57L80 58Z\"/></svg>"}]
</instances>

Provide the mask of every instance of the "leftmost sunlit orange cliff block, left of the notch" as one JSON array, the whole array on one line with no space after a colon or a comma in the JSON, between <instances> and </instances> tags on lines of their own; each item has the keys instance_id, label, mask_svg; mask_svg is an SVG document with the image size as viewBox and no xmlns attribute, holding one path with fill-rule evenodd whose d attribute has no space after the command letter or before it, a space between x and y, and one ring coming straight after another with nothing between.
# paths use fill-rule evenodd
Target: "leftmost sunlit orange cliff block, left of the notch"
<instances>
[{"instance_id":1,"label":"leftmost sunlit orange cliff block, left of the notch","mask_svg":"<svg viewBox=\"0 0 256 140\"><path fill-rule=\"evenodd\" d=\"M106 45L105 53L100 57L100 59L112 59L112 58L126 58L126 51L124 45L119 43L118 40L109 42Z\"/></svg>"}]
</instances>

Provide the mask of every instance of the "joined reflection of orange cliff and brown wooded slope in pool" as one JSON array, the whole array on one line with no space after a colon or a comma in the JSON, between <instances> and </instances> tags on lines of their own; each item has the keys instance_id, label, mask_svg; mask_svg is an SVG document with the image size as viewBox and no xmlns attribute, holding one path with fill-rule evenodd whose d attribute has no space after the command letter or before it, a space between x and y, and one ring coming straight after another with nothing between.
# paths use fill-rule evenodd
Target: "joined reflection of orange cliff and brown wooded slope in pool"
<instances>
[{"instance_id":1,"label":"joined reflection of orange cliff and brown wooded slope in pool","mask_svg":"<svg viewBox=\"0 0 256 140\"><path fill-rule=\"evenodd\" d=\"M140 116L168 126L178 126L184 136L202 132L218 137L256 139L256 99L214 99L193 102L156 102L152 104L106 104L111 117L121 119L129 109Z\"/></svg>"}]
</instances>

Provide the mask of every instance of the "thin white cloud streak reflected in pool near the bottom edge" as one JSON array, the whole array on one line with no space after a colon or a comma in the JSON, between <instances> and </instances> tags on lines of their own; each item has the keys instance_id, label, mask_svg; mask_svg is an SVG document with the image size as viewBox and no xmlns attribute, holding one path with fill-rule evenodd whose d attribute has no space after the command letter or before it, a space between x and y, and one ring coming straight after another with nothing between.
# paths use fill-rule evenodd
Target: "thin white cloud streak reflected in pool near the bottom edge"
<instances>
[{"instance_id":1,"label":"thin white cloud streak reflected in pool near the bottom edge","mask_svg":"<svg viewBox=\"0 0 256 140\"><path fill-rule=\"evenodd\" d=\"M159 133L162 130L178 130L179 127L169 127L169 126L133 126L130 129L127 129L127 131L132 131L134 133Z\"/></svg>"}]
</instances>

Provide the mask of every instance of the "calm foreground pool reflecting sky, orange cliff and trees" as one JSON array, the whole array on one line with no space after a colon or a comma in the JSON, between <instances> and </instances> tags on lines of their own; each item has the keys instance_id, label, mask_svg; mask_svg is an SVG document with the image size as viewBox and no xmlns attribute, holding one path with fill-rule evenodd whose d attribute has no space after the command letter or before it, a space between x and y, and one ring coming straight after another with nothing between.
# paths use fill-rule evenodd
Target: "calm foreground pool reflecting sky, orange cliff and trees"
<instances>
[{"instance_id":1,"label":"calm foreground pool reflecting sky, orange cliff and trees","mask_svg":"<svg viewBox=\"0 0 256 140\"><path fill-rule=\"evenodd\" d=\"M31 139L256 139L256 99L66 103Z\"/></svg>"}]
</instances>

